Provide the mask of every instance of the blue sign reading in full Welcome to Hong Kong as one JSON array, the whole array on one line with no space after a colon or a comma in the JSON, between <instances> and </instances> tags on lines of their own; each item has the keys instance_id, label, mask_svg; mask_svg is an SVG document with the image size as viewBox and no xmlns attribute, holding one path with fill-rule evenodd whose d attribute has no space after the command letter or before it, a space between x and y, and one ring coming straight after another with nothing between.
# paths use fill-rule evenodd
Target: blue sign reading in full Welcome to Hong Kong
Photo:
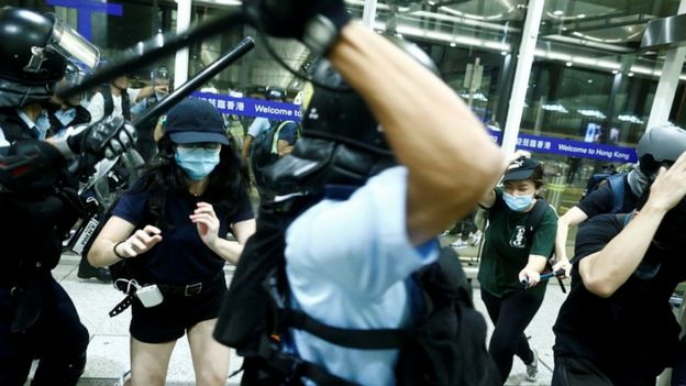
<instances>
[{"instance_id":1,"label":"blue sign reading in full Welcome to Hong Kong","mask_svg":"<svg viewBox=\"0 0 686 386\"><path fill-rule=\"evenodd\" d=\"M500 143L502 132L489 131L489 133L494 141ZM633 147L602 145L531 134L519 134L517 137L517 148L569 157L602 159L607 162L630 164L639 162L635 148Z\"/></svg>"}]
</instances>

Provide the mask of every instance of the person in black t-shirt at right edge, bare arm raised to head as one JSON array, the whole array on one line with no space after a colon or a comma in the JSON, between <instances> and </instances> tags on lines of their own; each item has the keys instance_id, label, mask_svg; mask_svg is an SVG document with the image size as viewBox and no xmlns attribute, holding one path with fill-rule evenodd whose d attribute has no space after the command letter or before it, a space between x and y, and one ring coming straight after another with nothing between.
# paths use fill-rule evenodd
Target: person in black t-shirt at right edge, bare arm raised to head
<instances>
[{"instance_id":1,"label":"person in black t-shirt at right edge, bare arm raised to head","mask_svg":"<svg viewBox=\"0 0 686 386\"><path fill-rule=\"evenodd\" d=\"M686 280L686 154L661 167L639 209L580 227L555 332L554 386L655 385L675 362L670 297Z\"/></svg>"}]
</instances>

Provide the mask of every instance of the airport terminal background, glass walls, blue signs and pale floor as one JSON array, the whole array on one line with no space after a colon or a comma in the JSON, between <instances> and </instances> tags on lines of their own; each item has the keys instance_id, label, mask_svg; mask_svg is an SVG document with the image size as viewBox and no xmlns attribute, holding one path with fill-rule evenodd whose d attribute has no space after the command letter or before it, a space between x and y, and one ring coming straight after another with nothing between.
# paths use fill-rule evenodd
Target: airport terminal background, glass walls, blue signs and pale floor
<instances>
[{"instance_id":1,"label":"airport terminal background, glass walls, blue signs and pale floor","mask_svg":"<svg viewBox=\"0 0 686 386\"><path fill-rule=\"evenodd\" d=\"M686 18L677 16L686 12L686 0L346 0L345 4L352 16L377 33L422 47L495 141L543 161L542 194L558 214L578 202L591 175L630 169L648 128L686 126L686 48L679 47L686 42ZM151 42L163 45L189 25L235 12L242 1L0 0L0 5L55 13L100 49L107 66ZM655 35L652 25L668 18L676 18L671 24L674 35ZM283 64L307 70L317 57L305 45L265 37L251 26L228 25L185 52L132 69L132 87L154 85L161 77L179 87L246 36L254 38L255 48L197 89L233 124L231 134L240 145L251 122L261 117L259 108L246 107L254 107L270 89L285 93L285 101L275 104L278 111L270 112L299 110L307 85ZM86 92L82 102L91 95ZM257 195L253 198L256 205ZM455 242L458 233L446 230L442 244ZM568 247L573 238L569 234ZM478 246L475 240L458 251L472 277ZM121 293L78 278L78 261L77 254L65 251L55 276L91 333L81 384L113 385L129 366L130 313L110 319L107 312ZM233 267L225 273L230 280ZM523 364L516 361L509 385L550 384L551 327L564 300L557 285L550 285L554 288L528 330L540 346L541 376L528 382ZM484 310L478 301L477 307ZM191 385L188 348L179 341L177 349L168 384ZM233 372L241 360L232 354L231 361ZM237 384L239 378L228 384Z\"/></svg>"}]
</instances>

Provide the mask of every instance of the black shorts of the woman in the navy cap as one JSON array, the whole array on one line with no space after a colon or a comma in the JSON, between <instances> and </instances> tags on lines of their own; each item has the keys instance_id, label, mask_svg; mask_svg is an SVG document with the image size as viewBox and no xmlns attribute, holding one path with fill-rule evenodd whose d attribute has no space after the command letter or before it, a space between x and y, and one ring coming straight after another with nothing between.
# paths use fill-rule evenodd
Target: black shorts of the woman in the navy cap
<instances>
[{"instance_id":1,"label":"black shorts of the woman in the navy cap","mask_svg":"<svg viewBox=\"0 0 686 386\"><path fill-rule=\"evenodd\" d=\"M131 337L144 343L175 341L203 320L214 319L226 295L223 275L202 291L192 296L163 291L164 300L145 308L137 299L131 308Z\"/></svg>"}]
</instances>

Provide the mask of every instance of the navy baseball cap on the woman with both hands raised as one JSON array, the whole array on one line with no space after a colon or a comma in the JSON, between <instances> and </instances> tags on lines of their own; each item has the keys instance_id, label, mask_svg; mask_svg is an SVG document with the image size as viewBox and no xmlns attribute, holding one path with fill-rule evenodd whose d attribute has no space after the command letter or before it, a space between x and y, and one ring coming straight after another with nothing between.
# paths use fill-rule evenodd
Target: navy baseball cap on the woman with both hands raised
<instances>
[{"instance_id":1,"label":"navy baseball cap on the woman with both hands raised","mask_svg":"<svg viewBox=\"0 0 686 386\"><path fill-rule=\"evenodd\" d=\"M186 98L167 113L165 133L178 144L214 142L229 145L224 120L207 100Z\"/></svg>"}]
</instances>

